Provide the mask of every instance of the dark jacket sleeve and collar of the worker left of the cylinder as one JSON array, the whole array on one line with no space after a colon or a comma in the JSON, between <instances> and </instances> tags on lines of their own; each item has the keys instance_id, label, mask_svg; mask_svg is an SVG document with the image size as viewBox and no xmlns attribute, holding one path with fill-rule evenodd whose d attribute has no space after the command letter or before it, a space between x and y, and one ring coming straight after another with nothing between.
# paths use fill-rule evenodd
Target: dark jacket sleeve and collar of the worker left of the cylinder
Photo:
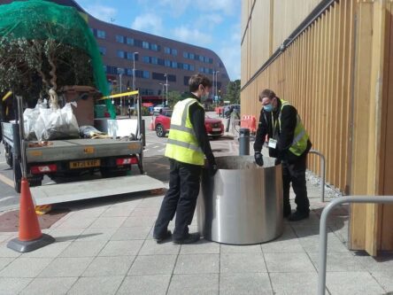
<instances>
[{"instance_id":1,"label":"dark jacket sleeve and collar of the worker left of the cylinder","mask_svg":"<svg viewBox=\"0 0 393 295\"><path fill-rule=\"evenodd\" d=\"M201 100L189 93L189 97L195 98L199 103ZM204 155L209 162L209 165L215 165L215 159L212 153L212 147L210 146L209 137L207 136L206 128L204 127L204 108L201 105L193 104L189 106L189 120L191 121L192 127L196 135L196 140L199 143Z\"/></svg>"}]
</instances>

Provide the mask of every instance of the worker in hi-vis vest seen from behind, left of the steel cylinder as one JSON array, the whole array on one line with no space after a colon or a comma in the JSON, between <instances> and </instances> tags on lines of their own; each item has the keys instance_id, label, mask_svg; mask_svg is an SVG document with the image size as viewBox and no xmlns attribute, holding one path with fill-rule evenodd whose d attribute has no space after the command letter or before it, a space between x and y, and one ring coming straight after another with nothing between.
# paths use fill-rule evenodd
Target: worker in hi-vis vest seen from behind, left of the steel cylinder
<instances>
[{"instance_id":1,"label":"worker in hi-vis vest seen from behind, left of the steel cylinder","mask_svg":"<svg viewBox=\"0 0 393 295\"><path fill-rule=\"evenodd\" d=\"M204 107L201 105L211 88L209 78L195 74L189 78L189 98L174 105L165 153L170 163L169 190L161 204L153 232L158 244L171 237L177 244L195 243L200 238L198 233L189 233L189 224L196 208L204 157L212 175L217 171L204 127ZM176 220L172 235L168 223L174 213Z\"/></svg>"}]
</instances>

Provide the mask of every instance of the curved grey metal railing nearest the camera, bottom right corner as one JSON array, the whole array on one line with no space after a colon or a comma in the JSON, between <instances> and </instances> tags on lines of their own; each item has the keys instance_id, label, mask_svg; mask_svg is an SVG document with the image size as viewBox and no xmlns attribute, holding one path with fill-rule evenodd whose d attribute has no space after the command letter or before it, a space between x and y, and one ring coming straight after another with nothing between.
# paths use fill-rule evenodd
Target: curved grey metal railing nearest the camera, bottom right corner
<instances>
[{"instance_id":1,"label":"curved grey metal railing nearest the camera, bottom right corner","mask_svg":"<svg viewBox=\"0 0 393 295\"><path fill-rule=\"evenodd\" d=\"M325 295L326 264L328 248L328 215L335 206L345 203L393 203L393 196L349 196L335 198L326 206L320 215L320 252L318 260L318 295Z\"/></svg>"}]
</instances>

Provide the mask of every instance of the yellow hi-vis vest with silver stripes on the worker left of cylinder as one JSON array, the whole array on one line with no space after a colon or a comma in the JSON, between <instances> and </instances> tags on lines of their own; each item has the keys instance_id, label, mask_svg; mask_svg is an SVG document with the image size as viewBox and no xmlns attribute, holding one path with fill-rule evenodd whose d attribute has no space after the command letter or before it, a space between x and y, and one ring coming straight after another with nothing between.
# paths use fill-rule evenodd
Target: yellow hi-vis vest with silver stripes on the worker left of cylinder
<instances>
[{"instance_id":1,"label":"yellow hi-vis vest with silver stripes on the worker left of cylinder","mask_svg":"<svg viewBox=\"0 0 393 295\"><path fill-rule=\"evenodd\" d=\"M189 106L194 104L199 104L196 98L187 98L174 105L165 155L182 163L204 166L204 152L189 120Z\"/></svg>"}]
</instances>

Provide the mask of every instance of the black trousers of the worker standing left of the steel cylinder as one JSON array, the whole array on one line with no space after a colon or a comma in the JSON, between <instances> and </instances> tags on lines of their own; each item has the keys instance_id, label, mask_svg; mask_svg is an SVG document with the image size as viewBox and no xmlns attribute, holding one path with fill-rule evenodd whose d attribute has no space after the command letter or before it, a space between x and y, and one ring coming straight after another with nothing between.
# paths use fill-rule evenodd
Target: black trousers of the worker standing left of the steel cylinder
<instances>
[{"instance_id":1,"label":"black trousers of the worker standing left of the steel cylinder","mask_svg":"<svg viewBox=\"0 0 393 295\"><path fill-rule=\"evenodd\" d=\"M176 213L173 239L181 239L187 237L189 224L194 216L202 167L174 159L169 159L169 162L169 190L162 201L153 236L162 237Z\"/></svg>"}]
</instances>

